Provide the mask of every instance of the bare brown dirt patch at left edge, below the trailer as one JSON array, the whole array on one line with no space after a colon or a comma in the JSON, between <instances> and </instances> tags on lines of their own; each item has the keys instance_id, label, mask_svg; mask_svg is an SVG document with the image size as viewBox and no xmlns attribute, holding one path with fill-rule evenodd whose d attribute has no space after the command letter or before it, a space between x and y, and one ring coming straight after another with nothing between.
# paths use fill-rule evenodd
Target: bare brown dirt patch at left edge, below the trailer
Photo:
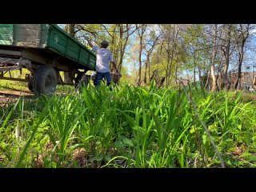
<instances>
[{"instance_id":1,"label":"bare brown dirt patch at left edge, below the trailer","mask_svg":"<svg viewBox=\"0 0 256 192\"><path fill-rule=\"evenodd\" d=\"M21 95L29 98L34 94L26 90L0 90L0 106L10 105L11 102L17 101Z\"/></svg>"}]
</instances>

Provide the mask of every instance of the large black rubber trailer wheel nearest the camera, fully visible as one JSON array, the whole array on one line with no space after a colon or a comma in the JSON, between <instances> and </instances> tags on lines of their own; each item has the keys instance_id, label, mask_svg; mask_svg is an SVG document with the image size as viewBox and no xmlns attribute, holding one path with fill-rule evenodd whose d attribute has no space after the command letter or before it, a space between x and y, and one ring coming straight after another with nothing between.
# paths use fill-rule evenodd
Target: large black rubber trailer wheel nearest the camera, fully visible
<instances>
[{"instance_id":1,"label":"large black rubber trailer wheel nearest the camera, fully visible","mask_svg":"<svg viewBox=\"0 0 256 192\"><path fill-rule=\"evenodd\" d=\"M33 89L38 94L54 94L57 86L57 74L51 66L40 66L35 71Z\"/></svg>"}]
</instances>

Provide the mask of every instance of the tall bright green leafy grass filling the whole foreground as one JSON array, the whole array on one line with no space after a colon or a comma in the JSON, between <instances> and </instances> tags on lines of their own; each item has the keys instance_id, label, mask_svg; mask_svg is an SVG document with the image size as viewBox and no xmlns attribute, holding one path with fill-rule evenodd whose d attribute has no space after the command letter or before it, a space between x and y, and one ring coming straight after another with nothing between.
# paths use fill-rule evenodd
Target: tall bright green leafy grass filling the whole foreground
<instances>
[{"instance_id":1,"label":"tall bright green leafy grass filling the whole foreground","mask_svg":"<svg viewBox=\"0 0 256 192\"><path fill-rule=\"evenodd\" d=\"M253 96L186 87L226 167L254 167ZM94 86L0 111L3 167L221 167L182 89Z\"/></svg>"}]
</instances>

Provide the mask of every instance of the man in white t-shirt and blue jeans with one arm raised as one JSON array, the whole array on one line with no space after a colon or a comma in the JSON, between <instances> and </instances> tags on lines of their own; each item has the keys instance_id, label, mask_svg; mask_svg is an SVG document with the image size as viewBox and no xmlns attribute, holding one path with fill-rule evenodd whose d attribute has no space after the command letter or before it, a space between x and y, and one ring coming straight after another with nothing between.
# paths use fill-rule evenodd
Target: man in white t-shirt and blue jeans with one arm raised
<instances>
[{"instance_id":1,"label":"man in white t-shirt and blue jeans with one arm raised","mask_svg":"<svg viewBox=\"0 0 256 192\"><path fill-rule=\"evenodd\" d=\"M114 58L110 53L110 50L107 50L106 47L109 46L109 42L103 41L101 47L94 46L89 38L86 38L89 46L93 48L94 53L96 54L96 78L94 81L94 86L99 86L102 78L106 78L107 86L110 86L111 76L110 76L110 64L109 61L114 65L115 70L118 71ZM110 87L110 90L112 88Z\"/></svg>"}]
</instances>

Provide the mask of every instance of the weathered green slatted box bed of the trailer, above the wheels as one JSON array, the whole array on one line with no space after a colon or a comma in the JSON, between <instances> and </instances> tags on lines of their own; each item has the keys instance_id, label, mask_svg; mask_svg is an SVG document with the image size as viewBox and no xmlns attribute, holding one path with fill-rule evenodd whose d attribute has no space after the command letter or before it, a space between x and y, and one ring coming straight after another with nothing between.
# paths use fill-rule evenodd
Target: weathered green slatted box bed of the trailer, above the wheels
<instances>
[{"instance_id":1,"label":"weathered green slatted box bed of the trailer, above the wheels","mask_svg":"<svg viewBox=\"0 0 256 192\"><path fill-rule=\"evenodd\" d=\"M6 50L28 59L31 53L38 58L60 58L68 68L96 70L96 55L54 24L0 24L0 54Z\"/></svg>"}]
</instances>

